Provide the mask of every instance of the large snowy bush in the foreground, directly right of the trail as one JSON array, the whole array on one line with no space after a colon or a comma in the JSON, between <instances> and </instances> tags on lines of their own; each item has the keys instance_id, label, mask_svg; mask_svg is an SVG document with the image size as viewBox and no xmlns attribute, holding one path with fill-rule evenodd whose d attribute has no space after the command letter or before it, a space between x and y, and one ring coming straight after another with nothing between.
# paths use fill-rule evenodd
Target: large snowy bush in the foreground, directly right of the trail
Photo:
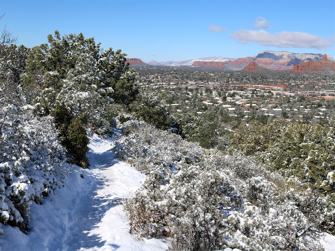
<instances>
[{"instance_id":1,"label":"large snowy bush in the foreground, directly right of the trail","mask_svg":"<svg viewBox=\"0 0 335 251\"><path fill-rule=\"evenodd\" d=\"M222 220L226 218L222 212L242 205L228 176L210 166L190 165L169 182L157 169L158 166L150 172L142 189L124 203L130 232L183 239L178 245L191 245L187 246L191 250L220 247ZM185 225L189 229L182 227Z\"/></svg>"}]
</instances>

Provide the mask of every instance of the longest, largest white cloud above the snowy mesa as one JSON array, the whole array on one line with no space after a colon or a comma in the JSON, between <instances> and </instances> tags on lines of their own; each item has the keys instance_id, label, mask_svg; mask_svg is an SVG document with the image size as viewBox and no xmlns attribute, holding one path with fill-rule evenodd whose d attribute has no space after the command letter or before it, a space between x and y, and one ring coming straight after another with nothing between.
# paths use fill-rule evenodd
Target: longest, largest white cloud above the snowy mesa
<instances>
[{"instance_id":1,"label":"longest, largest white cloud above the snowy mesa","mask_svg":"<svg viewBox=\"0 0 335 251\"><path fill-rule=\"evenodd\" d=\"M230 37L238 39L238 43L247 44L248 41L259 45L275 46L278 48L310 48L326 50L334 43L332 38L323 38L305 32L282 31L269 33L265 30L240 29L231 33Z\"/></svg>"}]
</instances>

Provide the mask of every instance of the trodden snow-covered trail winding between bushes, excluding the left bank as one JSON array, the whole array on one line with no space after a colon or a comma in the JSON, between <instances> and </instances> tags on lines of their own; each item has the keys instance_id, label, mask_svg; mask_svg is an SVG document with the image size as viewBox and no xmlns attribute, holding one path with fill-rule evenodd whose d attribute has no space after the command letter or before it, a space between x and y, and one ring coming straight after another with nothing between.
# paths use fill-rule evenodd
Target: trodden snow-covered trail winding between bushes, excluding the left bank
<instances>
[{"instance_id":1,"label":"trodden snow-covered trail winding between bushes, excluding the left bank","mask_svg":"<svg viewBox=\"0 0 335 251\"><path fill-rule=\"evenodd\" d=\"M140 187L145 175L115 159L111 142L96 140L89 147L91 169L96 173L96 187L84 198L66 244L69 250L166 250L158 240L138 241L127 233L123 207L124 196ZM122 230L122 232L120 231ZM151 247L150 247L151 246Z\"/></svg>"}]
</instances>

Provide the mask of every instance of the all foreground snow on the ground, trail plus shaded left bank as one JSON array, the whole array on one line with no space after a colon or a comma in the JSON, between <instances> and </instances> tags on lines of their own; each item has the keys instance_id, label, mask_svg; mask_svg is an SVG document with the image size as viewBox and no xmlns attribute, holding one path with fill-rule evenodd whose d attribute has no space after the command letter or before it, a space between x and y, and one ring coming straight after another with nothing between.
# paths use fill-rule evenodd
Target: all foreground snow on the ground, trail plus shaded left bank
<instances>
[{"instance_id":1,"label":"all foreground snow on the ground, trail plus shaded left bank","mask_svg":"<svg viewBox=\"0 0 335 251\"><path fill-rule=\"evenodd\" d=\"M76 167L55 195L46 197L41 205L31 205L26 235L3 225L0 249L167 250L166 239L138 240L128 232L119 201L140 187L145 175L114 158L113 140L94 135L89 144L90 168Z\"/></svg>"}]
</instances>

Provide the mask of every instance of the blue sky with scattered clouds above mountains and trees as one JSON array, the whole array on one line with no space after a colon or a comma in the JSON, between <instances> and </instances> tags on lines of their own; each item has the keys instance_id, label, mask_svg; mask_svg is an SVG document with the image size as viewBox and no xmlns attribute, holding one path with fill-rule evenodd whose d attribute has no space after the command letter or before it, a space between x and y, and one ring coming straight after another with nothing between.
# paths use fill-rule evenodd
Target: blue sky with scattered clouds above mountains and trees
<instances>
[{"instance_id":1,"label":"blue sky with scattered clouds above mountains and trees","mask_svg":"<svg viewBox=\"0 0 335 251\"><path fill-rule=\"evenodd\" d=\"M130 58L247 57L264 50L335 57L335 1L0 1L18 44L80 33Z\"/></svg>"}]
</instances>

